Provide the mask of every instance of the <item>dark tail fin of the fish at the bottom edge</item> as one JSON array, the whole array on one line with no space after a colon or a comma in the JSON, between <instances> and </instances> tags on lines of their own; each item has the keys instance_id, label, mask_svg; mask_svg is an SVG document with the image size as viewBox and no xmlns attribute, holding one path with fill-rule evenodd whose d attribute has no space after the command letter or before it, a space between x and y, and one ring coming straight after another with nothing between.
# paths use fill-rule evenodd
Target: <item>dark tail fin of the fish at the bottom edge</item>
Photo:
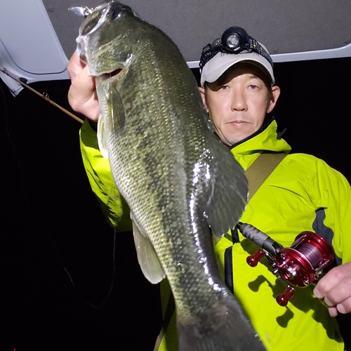
<instances>
[{"instance_id":1,"label":"dark tail fin of the fish at the bottom edge","mask_svg":"<svg viewBox=\"0 0 351 351\"><path fill-rule=\"evenodd\" d=\"M218 306L218 304L215 304ZM179 351L264 351L241 306L230 295L192 320L177 316Z\"/></svg>"}]
</instances>

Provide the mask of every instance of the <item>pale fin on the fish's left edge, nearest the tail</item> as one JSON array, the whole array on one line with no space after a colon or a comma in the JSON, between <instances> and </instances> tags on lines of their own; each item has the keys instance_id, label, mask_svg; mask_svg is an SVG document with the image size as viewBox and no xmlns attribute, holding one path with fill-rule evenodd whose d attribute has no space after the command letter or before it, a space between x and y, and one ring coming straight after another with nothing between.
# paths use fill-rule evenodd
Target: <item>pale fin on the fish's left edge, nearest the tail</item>
<instances>
[{"instance_id":1,"label":"pale fin on the fish's left edge, nearest the tail","mask_svg":"<svg viewBox=\"0 0 351 351\"><path fill-rule=\"evenodd\" d=\"M135 249L140 268L149 282L157 284L166 277L166 274L164 274L164 270L159 262L156 251L154 251L154 246L152 246L150 239L139 230L138 224L133 220L133 215L131 215L131 218L133 223Z\"/></svg>"}]
</instances>

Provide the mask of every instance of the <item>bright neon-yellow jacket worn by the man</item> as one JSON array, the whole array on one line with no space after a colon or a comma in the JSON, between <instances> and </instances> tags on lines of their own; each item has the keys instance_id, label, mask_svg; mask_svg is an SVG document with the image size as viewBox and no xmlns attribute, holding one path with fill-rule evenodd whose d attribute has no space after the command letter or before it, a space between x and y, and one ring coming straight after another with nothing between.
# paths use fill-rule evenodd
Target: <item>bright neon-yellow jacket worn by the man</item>
<instances>
[{"instance_id":1,"label":"bright neon-yellow jacket worn by the man","mask_svg":"<svg viewBox=\"0 0 351 351\"><path fill-rule=\"evenodd\" d=\"M267 151L290 151L289 145L277 138L274 120L232 148L244 170L260 153ZM114 187L108 161L98 152L96 133L86 122L81 128L81 152L91 187L107 220L119 231L131 230L128 207ZM241 222L258 227L283 246L291 246L300 232L317 232L332 244L338 263L351 260L350 185L338 171L316 157L307 154L285 157L249 201ZM254 268L246 263L246 257L257 249L240 233L239 242L234 245L232 237L227 235L215 246L223 279L225 272L232 270L229 276L234 277L234 293L267 350L343 350L338 323L314 298L312 286L297 289L286 307L277 304L275 297L284 291L284 283L270 272L265 258ZM163 282L161 303L164 310L169 293ZM177 349L173 315L160 340L159 350Z\"/></svg>"}]
</instances>

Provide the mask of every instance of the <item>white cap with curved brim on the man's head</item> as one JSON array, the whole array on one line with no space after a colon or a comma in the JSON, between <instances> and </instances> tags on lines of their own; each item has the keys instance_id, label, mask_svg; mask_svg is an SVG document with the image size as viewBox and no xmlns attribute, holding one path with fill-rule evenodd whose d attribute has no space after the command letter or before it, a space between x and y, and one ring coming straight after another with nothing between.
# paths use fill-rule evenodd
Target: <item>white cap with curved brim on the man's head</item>
<instances>
[{"instance_id":1,"label":"white cap with curved brim on the man's head","mask_svg":"<svg viewBox=\"0 0 351 351\"><path fill-rule=\"evenodd\" d=\"M265 51L267 51L267 48L265 48L265 46L262 44L260 44L260 46L262 46ZM240 53L219 52L214 55L211 60L206 62L206 65L204 65L201 70L201 86L204 86L205 81L208 83L213 83L213 81L216 81L228 68L232 67L232 65L243 61L253 63L253 65L256 65L263 69L268 74L268 77L270 77L272 85L274 84L275 79L273 74L273 67L270 62L259 53L248 53L246 51Z\"/></svg>"}]
</instances>

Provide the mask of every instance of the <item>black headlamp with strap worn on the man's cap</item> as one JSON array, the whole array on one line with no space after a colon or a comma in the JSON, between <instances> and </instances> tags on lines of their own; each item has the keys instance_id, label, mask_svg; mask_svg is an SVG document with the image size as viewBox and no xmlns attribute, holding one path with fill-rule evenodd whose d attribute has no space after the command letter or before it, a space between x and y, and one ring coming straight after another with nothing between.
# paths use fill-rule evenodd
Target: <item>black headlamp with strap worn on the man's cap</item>
<instances>
[{"instance_id":1,"label":"black headlamp with strap worn on the man's cap","mask_svg":"<svg viewBox=\"0 0 351 351\"><path fill-rule=\"evenodd\" d=\"M232 54L258 53L270 62L270 65L273 67L270 54L267 53L265 48L260 46L258 41L249 37L246 30L241 27L228 28L221 38L216 39L212 44L208 44L203 48L199 62L200 70L219 52Z\"/></svg>"}]
</instances>

